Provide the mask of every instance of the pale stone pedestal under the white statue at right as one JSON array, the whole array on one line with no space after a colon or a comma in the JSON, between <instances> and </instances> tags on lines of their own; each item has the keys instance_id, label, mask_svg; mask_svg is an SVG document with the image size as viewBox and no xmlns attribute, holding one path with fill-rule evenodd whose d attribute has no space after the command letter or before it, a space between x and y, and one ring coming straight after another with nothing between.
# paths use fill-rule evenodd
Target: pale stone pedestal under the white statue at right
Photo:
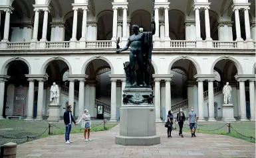
<instances>
[{"instance_id":1,"label":"pale stone pedestal under the white statue at right","mask_svg":"<svg viewBox=\"0 0 256 158\"><path fill-rule=\"evenodd\" d=\"M222 105L222 119L224 122L235 122L233 104Z\"/></svg>"}]
</instances>

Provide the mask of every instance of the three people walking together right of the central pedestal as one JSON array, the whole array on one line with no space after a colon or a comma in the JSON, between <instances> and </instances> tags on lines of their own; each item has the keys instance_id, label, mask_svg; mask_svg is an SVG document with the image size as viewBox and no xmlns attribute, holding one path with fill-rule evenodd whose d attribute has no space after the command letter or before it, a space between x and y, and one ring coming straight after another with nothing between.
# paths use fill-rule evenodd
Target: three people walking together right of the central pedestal
<instances>
[{"instance_id":1,"label":"three people walking together right of the central pedestal","mask_svg":"<svg viewBox=\"0 0 256 158\"><path fill-rule=\"evenodd\" d=\"M174 124L174 115L172 114L172 110L168 111L168 116L167 116L167 136L168 138L172 138L172 125ZM184 122L186 120L185 114L182 110L182 108L180 108L180 112L178 112L177 117L176 117L178 124L179 124L179 136L182 136L182 138L184 138L183 134L182 134L182 128L184 125ZM191 132L191 136L192 137L196 137L195 136L195 131L197 128L197 117L196 117L196 112L193 111L193 107L191 107L191 111L188 114L188 125L190 126L190 132Z\"/></svg>"}]
</instances>

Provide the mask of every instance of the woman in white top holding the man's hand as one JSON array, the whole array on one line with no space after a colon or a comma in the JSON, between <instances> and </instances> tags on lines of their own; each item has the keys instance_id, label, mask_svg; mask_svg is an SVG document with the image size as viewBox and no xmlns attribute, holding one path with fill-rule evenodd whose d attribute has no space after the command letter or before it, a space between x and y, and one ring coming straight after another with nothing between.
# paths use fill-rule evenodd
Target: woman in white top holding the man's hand
<instances>
[{"instance_id":1,"label":"woman in white top holding the man's hand","mask_svg":"<svg viewBox=\"0 0 256 158\"><path fill-rule=\"evenodd\" d=\"M82 121L82 128L84 128L84 140L85 141L91 141L90 139L90 114L88 113L87 109L84 109L84 114L82 114L82 118L78 121L78 124ZM86 139L86 133L88 136L88 139Z\"/></svg>"}]
</instances>

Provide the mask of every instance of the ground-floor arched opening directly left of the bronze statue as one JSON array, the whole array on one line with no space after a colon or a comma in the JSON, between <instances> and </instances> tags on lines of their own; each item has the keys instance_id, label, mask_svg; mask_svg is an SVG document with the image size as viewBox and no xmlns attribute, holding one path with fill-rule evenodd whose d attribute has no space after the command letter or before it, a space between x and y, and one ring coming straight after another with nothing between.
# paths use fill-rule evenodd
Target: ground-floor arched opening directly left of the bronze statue
<instances>
[{"instance_id":1,"label":"ground-floor arched opening directly left of the bronze statue","mask_svg":"<svg viewBox=\"0 0 256 158\"><path fill-rule=\"evenodd\" d=\"M90 111L91 117L96 118L96 106L102 105L104 118L109 118L111 110L111 82L108 76L111 74L110 65L104 59L92 59L86 64L84 73L88 75L88 79L85 82L84 108ZM120 98L117 97L117 99Z\"/></svg>"}]
</instances>

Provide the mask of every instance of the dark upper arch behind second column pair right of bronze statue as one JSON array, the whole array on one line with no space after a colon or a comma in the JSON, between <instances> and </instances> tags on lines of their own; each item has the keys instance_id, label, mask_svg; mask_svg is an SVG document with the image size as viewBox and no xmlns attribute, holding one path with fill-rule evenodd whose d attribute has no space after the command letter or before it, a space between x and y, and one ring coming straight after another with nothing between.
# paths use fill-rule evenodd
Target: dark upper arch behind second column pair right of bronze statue
<instances>
[{"instance_id":1,"label":"dark upper arch behind second column pair right of bronze statue","mask_svg":"<svg viewBox=\"0 0 256 158\"><path fill-rule=\"evenodd\" d=\"M219 33L217 24L219 23L219 15L214 11L209 10L209 26L211 31L211 39L219 40ZM202 11L200 13L200 27L201 27L201 38L205 40L206 33L205 33L205 12Z\"/></svg>"}]
</instances>

